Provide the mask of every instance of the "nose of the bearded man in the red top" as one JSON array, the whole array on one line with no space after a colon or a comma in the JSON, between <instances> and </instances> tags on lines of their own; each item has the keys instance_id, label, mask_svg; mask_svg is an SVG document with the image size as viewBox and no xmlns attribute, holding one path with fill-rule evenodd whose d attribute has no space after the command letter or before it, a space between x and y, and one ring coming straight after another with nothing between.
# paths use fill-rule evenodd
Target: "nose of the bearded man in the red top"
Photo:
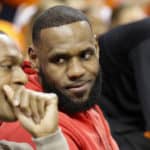
<instances>
[{"instance_id":1,"label":"nose of the bearded man in the red top","mask_svg":"<svg viewBox=\"0 0 150 150\"><path fill-rule=\"evenodd\" d=\"M76 80L84 76L85 69L77 58L72 58L68 65L67 76L70 80Z\"/></svg>"}]
</instances>

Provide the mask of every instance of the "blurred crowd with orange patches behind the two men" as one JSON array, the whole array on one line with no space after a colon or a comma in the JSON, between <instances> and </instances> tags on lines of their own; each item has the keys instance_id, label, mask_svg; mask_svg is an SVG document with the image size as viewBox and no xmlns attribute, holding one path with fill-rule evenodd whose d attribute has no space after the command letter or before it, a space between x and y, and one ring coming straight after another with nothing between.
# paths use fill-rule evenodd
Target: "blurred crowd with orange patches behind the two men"
<instances>
[{"instance_id":1,"label":"blurred crowd with orange patches behind the two men","mask_svg":"<svg viewBox=\"0 0 150 150\"><path fill-rule=\"evenodd\" d=\"M26 58L34 19L43 10L62 4L83 11L97 36L150 16L150 0L0 0L0 30L16 40Z\"/></svg>"}]
</instances>

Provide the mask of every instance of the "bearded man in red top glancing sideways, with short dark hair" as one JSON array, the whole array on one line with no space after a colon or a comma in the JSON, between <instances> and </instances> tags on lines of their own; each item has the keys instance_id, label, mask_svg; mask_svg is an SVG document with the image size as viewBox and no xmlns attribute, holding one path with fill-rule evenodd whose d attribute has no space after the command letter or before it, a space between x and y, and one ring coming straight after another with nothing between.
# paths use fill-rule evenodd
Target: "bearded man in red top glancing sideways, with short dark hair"
<instances>
[{"instance_id":1,"label":"bearded man in red top glancing sideways, with short dark hair","mask_svg":"<svg viewBox=\"0 0 150 150\"><path fill-rule=\"evenodd\" d=\"M58 96L59 127L70 150L117 150L96 105L99 49L87 17L66 6L50 8L36 19L32 38L30 57L39 63L42 90ZM34 89L36 78L29 79L27 87Z\"/></svg>"}]
</instances>

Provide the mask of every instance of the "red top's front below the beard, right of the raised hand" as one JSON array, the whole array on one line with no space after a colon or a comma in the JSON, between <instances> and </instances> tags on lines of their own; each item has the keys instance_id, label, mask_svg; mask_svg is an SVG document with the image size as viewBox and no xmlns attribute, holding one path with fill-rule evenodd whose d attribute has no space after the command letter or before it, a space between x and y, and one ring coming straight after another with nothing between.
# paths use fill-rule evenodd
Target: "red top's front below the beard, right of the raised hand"
<instances>
[{"instance_id":1,"label":"red top's front below the beard, right of the raised hand","mask_svg":"<svg viewBox=\"0 0 150 150\"><path fill-rule=\"evenodd\" d=\"M60 112L59 125L70 150L119 150L98 106L71 117Z\"/></svg>"}]
</instances>

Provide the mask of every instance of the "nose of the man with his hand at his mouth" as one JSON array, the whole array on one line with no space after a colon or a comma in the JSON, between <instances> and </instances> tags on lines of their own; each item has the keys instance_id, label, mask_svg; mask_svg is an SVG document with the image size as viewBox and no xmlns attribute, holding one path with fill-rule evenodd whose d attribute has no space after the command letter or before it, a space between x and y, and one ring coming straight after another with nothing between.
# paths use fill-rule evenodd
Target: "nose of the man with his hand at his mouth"
<instances>
[{"instance_id":1,"label":"nose of the man with his hand at his mouth","mask_svg":"<svg viewBox=\"0 0 150 150\"><path fill-rule=\"evenodd\" d=\"M13 68L12 82L13 84L22 85L27 83L27 76L20 66L16 66L15 68Z\"/></svg>"}]
</instances>

